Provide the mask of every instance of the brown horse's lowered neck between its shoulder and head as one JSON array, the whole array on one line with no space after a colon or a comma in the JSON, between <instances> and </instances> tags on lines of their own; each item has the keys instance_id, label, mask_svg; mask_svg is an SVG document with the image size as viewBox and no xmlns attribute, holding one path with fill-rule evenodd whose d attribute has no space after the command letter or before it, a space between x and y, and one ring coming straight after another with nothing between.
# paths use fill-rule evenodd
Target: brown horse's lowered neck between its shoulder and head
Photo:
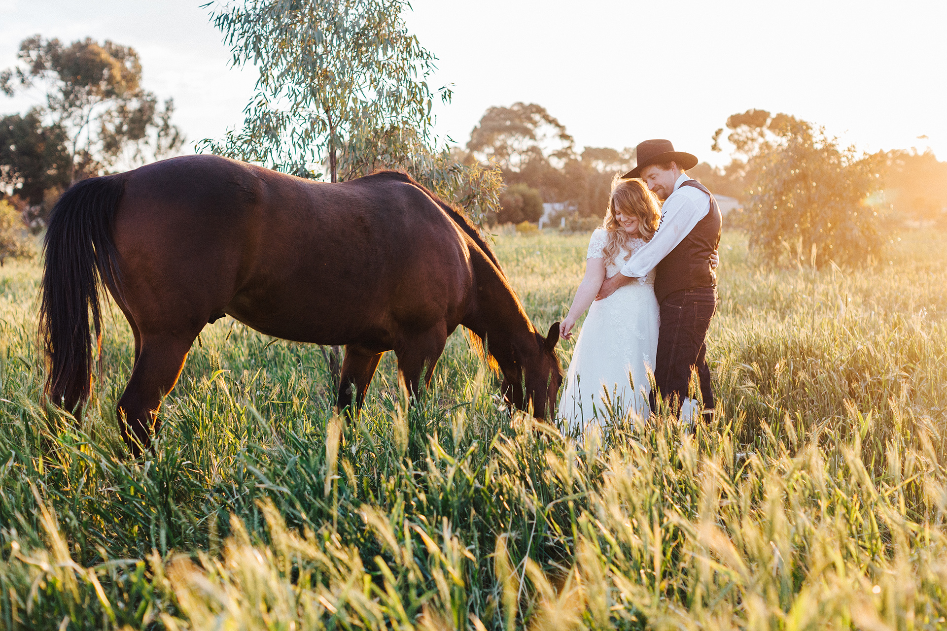
<instances>
[{"instance_id":1,"label":"brown horse's lowered neck between its shoulder and head","mask_svg":"<svg viewBox=\"0 0 947 631\"><path fill-rule=\"evenodd\" d=\"M484 340L505 375L516 374L535 329L502 273L485 255L472 254L476 297L462 324Z\"/></svg>"}]
</instances>

